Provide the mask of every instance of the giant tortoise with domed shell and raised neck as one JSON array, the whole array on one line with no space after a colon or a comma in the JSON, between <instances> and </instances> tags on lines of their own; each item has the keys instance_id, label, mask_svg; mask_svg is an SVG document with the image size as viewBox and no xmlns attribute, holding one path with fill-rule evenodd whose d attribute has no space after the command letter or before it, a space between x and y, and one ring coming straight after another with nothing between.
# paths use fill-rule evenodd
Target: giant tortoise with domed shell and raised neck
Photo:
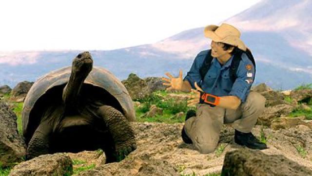
<instances>
[{"instance_id":1,"label":"giant tortoise with domed shell and raised neck","mask_svg":"<svg viewBox=\"0 0 312 176\"><path fill-rule=\"evenodd\" d=\"M26 158L102 149L106 163L120 161L136 149L134 120L126 88L93 67L89 52L80 53L72 66L42 76L29 90L22 111Z\"/></svg>"}]
</instances>

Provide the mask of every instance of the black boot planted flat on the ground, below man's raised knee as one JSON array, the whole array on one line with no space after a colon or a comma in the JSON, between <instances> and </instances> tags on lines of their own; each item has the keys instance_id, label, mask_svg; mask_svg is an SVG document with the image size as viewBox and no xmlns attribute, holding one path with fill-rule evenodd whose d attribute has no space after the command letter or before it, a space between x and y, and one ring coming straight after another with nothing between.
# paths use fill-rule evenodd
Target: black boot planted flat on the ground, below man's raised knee
<instances>
[{"instance_id":1,"label":"black boot planted flat on the ground, below man's raised knee","mask_svg":"<svg viewBox=\"0 0 312 176\"><path fill-rule=\"evenodd\" d=\"M239 132L235 130L234 140L236 144L246 146L251 149L268 149L265 143L260 142L251 132Z\"/></svg>"}]
</instances>

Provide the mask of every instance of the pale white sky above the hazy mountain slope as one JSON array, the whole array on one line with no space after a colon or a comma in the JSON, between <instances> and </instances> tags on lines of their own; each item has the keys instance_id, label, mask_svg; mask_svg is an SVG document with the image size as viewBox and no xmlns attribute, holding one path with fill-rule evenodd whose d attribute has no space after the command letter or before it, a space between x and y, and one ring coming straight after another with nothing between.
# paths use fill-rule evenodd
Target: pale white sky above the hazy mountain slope
<instances>
[{"instance_id":1,"label":"pale white sky above the hazy mountain slope","mask_svg":"<svg viewBox=\"0 0 312 176\"><path fill-rule=\"evenodd\" d=\"M0 51L109 50L219 24L260 0L1 0Z\"/></svg>"}]
</instances>

